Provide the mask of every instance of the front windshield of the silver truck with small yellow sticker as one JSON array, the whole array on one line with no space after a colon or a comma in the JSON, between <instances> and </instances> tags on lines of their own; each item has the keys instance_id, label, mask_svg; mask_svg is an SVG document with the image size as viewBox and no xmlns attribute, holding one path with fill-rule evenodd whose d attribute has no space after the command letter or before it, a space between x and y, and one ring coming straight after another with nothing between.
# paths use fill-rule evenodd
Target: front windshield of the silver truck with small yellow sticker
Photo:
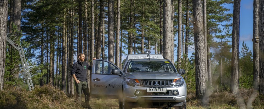
<instances>
[{"instance_id":1,"label":"front windshield of the silver truck with small yellow sticker","mask_svg":"<svg viewBox=\"0 0 264 109\"><path fill-rule=\"evenodd\" d=\"M177 72L169 61L132 61L128 72Z\"/></svg>"}]
</instances>

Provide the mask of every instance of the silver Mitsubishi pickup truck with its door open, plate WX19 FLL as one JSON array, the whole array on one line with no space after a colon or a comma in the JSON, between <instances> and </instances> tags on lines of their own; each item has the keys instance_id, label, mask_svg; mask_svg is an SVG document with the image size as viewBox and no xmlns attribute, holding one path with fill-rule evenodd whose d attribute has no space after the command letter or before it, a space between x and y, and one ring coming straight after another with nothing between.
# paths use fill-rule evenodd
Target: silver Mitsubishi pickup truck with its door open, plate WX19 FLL
<instances>
[{"instance_id":1,"label":"silver Mitsubishi pickup truck with its door open, plate WX19 FLL","mask_svg":"<svg viewBox=\"0 0 264 109\"><path fill-rule=\"evenodd\" d=\"M119 99L119 108L186 108L187 88L181 74L162 55L128 55L124 67L96 59L91 76L92 98Z\"/></svg>"}]
</instances>

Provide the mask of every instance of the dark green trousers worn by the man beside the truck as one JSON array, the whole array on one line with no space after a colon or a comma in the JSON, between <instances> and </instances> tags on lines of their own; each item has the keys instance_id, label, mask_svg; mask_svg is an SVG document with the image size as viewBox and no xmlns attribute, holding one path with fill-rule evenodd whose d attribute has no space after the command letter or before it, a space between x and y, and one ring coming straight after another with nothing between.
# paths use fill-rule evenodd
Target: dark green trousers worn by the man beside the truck
<instances>
[{"instance_id":1,"label":"dark green trousers worn by the man beside the truck","mask_svg":"<svg viewBox=\"0 0 264 109\"><path fill-rule=\"evenodd\" d=\"M80 81L79 84L77 84L75 81L75 86L76 86L76 99L79 102L81 102L81 91L83 91L85 98L85 105L87 107L90 107L89 105L90 93L89 93L87 81Z\"/></svg>"}]
</instances>

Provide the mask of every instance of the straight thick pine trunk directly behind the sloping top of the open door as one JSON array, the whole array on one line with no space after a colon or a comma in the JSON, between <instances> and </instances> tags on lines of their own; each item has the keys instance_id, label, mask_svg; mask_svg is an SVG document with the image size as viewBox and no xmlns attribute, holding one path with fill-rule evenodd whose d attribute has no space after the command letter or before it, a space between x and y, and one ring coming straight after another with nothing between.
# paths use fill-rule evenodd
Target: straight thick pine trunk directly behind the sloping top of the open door
<instances>
[{"instance_id":1,"label":"straight thick pine trunk directly behind the sloping top of the open door","mask_svg":"<svg viewBox=\"0 0 264 109\"><path fill-rule=\"evenodd\" d=\"M113 1L108 0L108 61L114 63L114 19ZM103 39L104 40L104 39Z\"/></svg>"}]
</instances>

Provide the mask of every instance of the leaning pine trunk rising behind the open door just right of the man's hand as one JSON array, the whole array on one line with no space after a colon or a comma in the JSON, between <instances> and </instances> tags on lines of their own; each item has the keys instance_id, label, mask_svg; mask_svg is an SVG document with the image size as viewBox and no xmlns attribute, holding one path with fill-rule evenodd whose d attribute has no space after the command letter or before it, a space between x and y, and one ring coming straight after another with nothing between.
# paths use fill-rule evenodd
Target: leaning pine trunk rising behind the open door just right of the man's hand
<instances>
[{"instance_id":1,"label":"leaning pine trunk rising behind the open door just right of the man's hand","mask_svg":"<svg viewBox=\"0 0 264 109\"><path fill-rule=\"evenodd\" d=\"M98 35L97 35L97 44L96 44L96 58L100 59L101 58L101 43L102 42L102 35L103 35L103 16L104 16L104 5L105 1L100 0L100 16L99 16L99 26L98 26Z\"/></svg>"}]
</instances>

